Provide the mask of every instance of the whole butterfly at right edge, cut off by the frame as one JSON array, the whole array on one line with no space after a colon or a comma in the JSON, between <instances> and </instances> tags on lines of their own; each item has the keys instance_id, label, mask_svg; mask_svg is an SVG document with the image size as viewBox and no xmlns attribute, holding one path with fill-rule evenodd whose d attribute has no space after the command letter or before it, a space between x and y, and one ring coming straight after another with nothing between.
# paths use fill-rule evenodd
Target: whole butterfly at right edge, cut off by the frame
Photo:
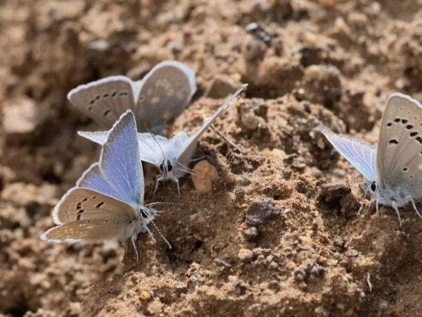
<instances>
[{"instance_id":1,"label":"whole butterfly at right edge, cut off by the frame","mask_svg":"<svg viewBox=\"0 0 422 317\"><path fill-rule=\"evenodd\" d=\"M411 203L422 218L415 204L422 197L422 106L418 101L400 93L388 98L377 147L345 135L323 133L369 180L365 194L370 192L376 198L377 214L378 204L391 206L401 226L399 208Z\"/></svg>"}]
</instances>

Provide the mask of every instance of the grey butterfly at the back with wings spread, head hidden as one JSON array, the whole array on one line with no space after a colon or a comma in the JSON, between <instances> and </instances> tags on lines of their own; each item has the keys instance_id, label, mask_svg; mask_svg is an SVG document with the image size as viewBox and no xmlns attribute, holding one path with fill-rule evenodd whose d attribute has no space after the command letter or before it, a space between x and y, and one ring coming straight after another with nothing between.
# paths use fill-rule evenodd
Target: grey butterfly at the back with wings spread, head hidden
<instances>
[{"instance_id":1,"label":"grey butterfly at the back with wings spread, head hidden","mask_svg":"<svg viewBox=\"0 0 422 317\"><path fill-rule=\"evenodd\" d=\"M152 132L160 133L165 127L166 112L179 115L195 92L195 73L191 68L177 61L163 61L142 80L133 82L122 75L106 77L72 89L68 100L106 127L131 109L139 130L146 122Z\"/></svg>"}]
</instances>

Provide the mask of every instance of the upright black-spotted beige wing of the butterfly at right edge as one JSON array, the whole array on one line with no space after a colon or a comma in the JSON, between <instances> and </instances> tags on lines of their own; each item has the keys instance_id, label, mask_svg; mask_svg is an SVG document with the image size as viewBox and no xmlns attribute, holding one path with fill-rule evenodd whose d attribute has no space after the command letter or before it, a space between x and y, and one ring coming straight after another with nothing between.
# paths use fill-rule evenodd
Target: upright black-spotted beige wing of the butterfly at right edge
<instances>
[{"instance_id":1,"label":"upright black-spotted beige wing of the butterfly at right edge","mask_svg":"<svg viewBox=\"0 0 422 317\"><path fill-rule=\"evenodd\" d=\"M390 188L422 196L422 106L404 94L387 101L378 142L378 180Z\"/></svg>"}]
</instances>

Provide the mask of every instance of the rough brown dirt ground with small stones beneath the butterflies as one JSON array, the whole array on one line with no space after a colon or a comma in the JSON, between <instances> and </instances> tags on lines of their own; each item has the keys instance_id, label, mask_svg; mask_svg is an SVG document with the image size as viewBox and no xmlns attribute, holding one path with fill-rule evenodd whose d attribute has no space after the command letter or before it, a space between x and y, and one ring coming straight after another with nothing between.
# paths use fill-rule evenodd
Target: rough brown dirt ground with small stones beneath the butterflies
<instances>
[{"instance_id":1,"label":"rough brown dirt ground with small stones beneath the butterflies","mask_svg":"<svg viewBox=\"0 0 422 317\"><path fill-rule=\"evenodd\" d=\"M422 220L376 216L321 127L375 143L391 92L422 99L421 0L0 0L0 316L422 316ZM247 32L258 23L269 45ZM107 75L175 59L198 92L169 135L193 132L248 82L197 157L211 194L167 185L129 246L47 244L51 211L99 149L65 99ZM220 87L220 86L219 86ZM149 172L151 173L151 171ZM162 189L146 201L161 200ZM359 205L366 203L362 216ZM421 243L419 243L421 242Z\"/></svg>"}]
</instances>

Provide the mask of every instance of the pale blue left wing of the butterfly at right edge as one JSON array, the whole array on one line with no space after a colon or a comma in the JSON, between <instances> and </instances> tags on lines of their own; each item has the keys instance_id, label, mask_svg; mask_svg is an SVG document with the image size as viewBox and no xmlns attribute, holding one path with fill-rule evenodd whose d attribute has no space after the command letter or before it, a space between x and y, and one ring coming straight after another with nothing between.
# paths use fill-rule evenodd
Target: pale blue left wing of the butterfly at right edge
<instances>
[{"instance_id":1,"label":"pale blue left wing of the butterfly at right edge","mask_svg":"<svg viewBox=\"0 0 422 317\"><path fill-rule=\"evenodd\" d=\"M347 161L352 163L354 168L359 170L367 179L376 180L376 147L359 139L338 135L330 131L323 133L328 141L333 144L333 147Z\"/></svg>"}]
</instances>

